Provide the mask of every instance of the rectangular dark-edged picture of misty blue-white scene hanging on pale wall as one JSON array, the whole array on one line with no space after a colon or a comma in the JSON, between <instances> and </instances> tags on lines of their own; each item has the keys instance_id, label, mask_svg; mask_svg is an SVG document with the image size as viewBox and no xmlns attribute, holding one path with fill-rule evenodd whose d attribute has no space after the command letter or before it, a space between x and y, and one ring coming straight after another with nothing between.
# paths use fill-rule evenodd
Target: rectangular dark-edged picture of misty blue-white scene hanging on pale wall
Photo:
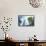
<instances>
[{"instance_id":1,"label":"rectangular dark-edged picture of misty blue-white scene hanging on pale wall","mask_svg":"<svg viewBox=\"0 0 46 46\"><path fill-rule=\"evenodd\" d=\"M34 26L34 15L18 15L18 26Z\"/></svg>"}]
</instances>

